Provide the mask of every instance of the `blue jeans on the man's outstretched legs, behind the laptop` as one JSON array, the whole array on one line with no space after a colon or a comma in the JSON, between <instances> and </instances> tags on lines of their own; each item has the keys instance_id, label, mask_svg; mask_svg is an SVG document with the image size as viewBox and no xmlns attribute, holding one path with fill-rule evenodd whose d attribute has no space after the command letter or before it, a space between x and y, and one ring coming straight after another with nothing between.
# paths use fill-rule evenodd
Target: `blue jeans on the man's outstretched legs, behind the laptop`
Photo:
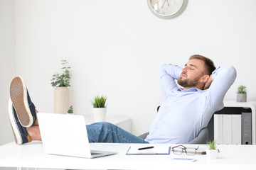
<instances>
[{"instance_id":1,"label":"blue jeans on the man's outstretched legs, behind the laptop","mask_svg":"<svg viewBox=\"0 0 256 170\"><path fill-rule=\"evenodd\" d=\"M86 125L89 142L149 143L112 123L102 122Z\"/></svg>"}]
</instances>

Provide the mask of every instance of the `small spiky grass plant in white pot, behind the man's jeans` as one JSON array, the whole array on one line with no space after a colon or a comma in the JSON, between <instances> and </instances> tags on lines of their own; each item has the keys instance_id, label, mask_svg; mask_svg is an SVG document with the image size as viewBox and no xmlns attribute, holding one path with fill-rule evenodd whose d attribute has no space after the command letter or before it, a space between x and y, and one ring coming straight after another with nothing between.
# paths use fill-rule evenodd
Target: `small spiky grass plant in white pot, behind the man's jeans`
<instances>
[{"instance_id":1,"label":"small spiky grass plant in white pot, behind the man's jeans","mask_svg":"<svg viewBox=\"0 0 256 170\"><path fill-rule=\"evenodd\" d=\"M93 115L95 122L104 122L106 119L106 101L107 97L105 96L95 96L92 100L93 106Z\"/></svg>"}]
</instances>

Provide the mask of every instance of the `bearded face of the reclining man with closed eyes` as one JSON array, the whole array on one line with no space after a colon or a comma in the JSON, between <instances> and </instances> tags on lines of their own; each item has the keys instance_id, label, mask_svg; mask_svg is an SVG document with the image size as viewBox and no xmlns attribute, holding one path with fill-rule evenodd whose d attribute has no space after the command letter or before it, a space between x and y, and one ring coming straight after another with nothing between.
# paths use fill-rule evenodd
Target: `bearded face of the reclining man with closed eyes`
<instances>
[{"instance_id":1,"label":"bearded face of the reclining man with closed eyes","mask_svg":"<svg viewBox=\"0 0 256 170\"><path fill-rule=\"evenodd\" d=\"M196 87L204 75L205 63L202 60L189 60L182 69L181 76L178 78L178 84L184 89Z\"/></svg>"}]
</instances>

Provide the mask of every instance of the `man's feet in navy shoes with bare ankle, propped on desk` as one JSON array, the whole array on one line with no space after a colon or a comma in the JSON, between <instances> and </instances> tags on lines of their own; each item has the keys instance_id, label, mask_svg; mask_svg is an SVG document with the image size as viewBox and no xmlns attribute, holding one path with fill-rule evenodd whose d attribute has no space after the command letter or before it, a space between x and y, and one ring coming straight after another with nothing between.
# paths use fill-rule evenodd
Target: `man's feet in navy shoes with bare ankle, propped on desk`
<instances>
[{"instance_id":1,"label":"man's feet in navy shoes with bare ankle, propped on desk","mask_svg":"<svg viewBox=\"0 0 256 170\"><path fill-rule=\"evenodd\" d=\"M14 77L10 85L9 119L17 145L41 140L36 107L21 77Z\"/></svg>"}]
</instances>

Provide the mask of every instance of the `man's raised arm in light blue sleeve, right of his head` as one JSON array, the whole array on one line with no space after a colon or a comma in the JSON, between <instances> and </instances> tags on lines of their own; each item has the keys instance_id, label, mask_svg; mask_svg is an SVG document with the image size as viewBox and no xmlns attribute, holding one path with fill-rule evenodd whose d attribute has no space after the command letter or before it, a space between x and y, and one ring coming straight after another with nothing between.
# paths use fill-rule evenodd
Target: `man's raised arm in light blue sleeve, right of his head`
<instances>
[{"instance_id":1,"label":"man's raised arm in light blue sleeve, right of his head","mask_svg":"<svg viewBox=\"0 0 256 170\"><path fill-rule=\"evenodd\" d=\"M210 81L206 83L205 87L210 85L209 100L211 108L223 108L223 99L230 86L234 83L236 78L236 70L233 66L218 67L210 76ZM212 82L211 82L212 81Z\"/></svg>"}]
</instances>

